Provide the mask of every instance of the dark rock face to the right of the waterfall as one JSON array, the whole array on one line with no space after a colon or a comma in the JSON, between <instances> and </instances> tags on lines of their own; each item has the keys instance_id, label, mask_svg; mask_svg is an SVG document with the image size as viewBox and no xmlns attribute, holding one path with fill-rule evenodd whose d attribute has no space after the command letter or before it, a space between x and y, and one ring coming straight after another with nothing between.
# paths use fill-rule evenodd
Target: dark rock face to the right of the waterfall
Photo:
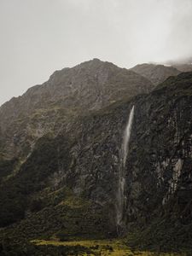
<instances>
[{"instance_id":1,"label":"dark rock face to the right of the waterfall","mask_svg":"<svg viewBox=\"0 0 192 256\"><path fill-rule=\"evenodd\" d=\"M148 212L160 212L171 201L177 218L190 219L191 89L192 73L183 73L135 102L127 160L128 224L145 221Z\"/></svg>"}]
</instances>

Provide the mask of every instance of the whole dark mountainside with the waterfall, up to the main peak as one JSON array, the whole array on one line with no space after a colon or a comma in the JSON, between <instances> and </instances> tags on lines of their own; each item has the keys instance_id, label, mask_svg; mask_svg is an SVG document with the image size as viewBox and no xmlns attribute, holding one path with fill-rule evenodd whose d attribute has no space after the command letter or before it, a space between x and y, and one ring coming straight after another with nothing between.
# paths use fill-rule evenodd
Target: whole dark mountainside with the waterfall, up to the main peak
<instances>
[{"instance_id":1,"label":"whole dark mountainside with the waterfall, up to the main peak","mask_svg":"<svg viewBox=\"0 0 192 256\"><path fill-rule=\"evenodd\" d=\"M103 79L109 67L113 73L103 87L87 80L97 71ZM58 82L57 92L56 81L67 84L59 72L49 79L55 78L54 90L39 85L1 108L1 252L62 255L60 247L32 241L125 236L134 248L191 255L192 73L154 88L108 62L88 61L61 73L69 71L77 84L86 77L79 105L79 94L65 102L66 85ZM96 96L95 86L102 93L108 87L108 97ZM40 91L48 87L44 100Z\"/></svg>"}]
</instances>

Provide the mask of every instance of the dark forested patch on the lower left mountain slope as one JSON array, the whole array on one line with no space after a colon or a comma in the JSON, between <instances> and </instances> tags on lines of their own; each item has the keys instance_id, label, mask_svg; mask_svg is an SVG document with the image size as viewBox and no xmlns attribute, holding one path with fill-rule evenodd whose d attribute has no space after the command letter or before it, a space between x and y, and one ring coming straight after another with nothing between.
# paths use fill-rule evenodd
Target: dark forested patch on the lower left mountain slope
<instances>
[{"instance_id":1,"label":"dark forested patch on the lower left mountain slope","mask_svg":"<svg viewBox=\"0 0 192 256\"><path fill-rule=\"evenodd\" d=\"M31 207L32 211L35 208L39 209L41 203L39 199L34 200L32 195L48 186L48 177L58 170L61 155L65 156L65 163L68 164L67 145L66 148L60 148L61 155L57 154L57 147L59 147L58 142L49 137L42 137L31 156L20 167L20 171L2 183L0 226L7 226L24 218L28 207ZM1 163L2 177L13 172L14 164L15 160Z\"/></svg>"}]
</instances>

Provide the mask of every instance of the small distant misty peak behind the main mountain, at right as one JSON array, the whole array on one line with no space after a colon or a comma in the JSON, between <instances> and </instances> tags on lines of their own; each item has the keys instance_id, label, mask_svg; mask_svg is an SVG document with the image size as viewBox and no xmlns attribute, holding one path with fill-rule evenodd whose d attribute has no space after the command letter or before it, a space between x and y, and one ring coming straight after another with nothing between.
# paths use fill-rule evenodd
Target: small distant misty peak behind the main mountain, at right
<instances>
[{"instance_id":1,"label":"small distant misty peak behind the main mountain, at right","mask_svg":"<svg viewBox=\"0 0 192 256\"><path fill-rule=\"evenodd\" d=\"M181 73L176 67L167 67L160 64L140 64L131 68L132 71L141 74L150 80L154 85L164 82L171 76Z\"/></svg>"}]
</instances>

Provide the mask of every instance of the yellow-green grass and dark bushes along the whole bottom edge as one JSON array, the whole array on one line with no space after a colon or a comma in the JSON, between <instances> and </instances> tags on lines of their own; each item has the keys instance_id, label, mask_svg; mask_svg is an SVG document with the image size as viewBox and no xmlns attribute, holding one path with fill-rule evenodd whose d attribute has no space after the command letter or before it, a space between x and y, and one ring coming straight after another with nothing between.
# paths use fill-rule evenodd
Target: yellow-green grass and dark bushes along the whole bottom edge
<instances>
[{"instance_id":1,"label":"yellow-green grass and dark bushes along the whole bottom edge","mask_svg":"<svg viewBox=\"0 0 192 256\"><path fill-rule=\"evenodd\" d=\"M1 255L84 255L84 256L186 256L186 253L153 253L127 247L123 240L45 241L33 240L16 246L5 241Z\"/></svg>"}]
</instances>

